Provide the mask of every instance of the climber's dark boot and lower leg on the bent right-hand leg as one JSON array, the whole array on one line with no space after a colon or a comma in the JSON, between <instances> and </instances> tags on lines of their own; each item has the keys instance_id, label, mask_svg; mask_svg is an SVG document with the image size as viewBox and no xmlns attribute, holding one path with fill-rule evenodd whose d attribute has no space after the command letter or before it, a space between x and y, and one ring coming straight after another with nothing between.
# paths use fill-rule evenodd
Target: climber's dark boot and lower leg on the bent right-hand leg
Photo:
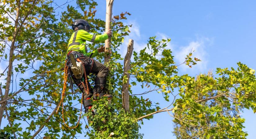
<instances>
[{"instance_id":1,"label":"climber's dark boot and lower leg on the bent right-hand leg","mask_svg":"<svg viewBox=\"0 0 256 139\"><path fill-rule=\"evenodd\" d=\"M102 97L106 97L107 99L112 99L112 95L106 95L102 93L102 90L104 88L104 85L106 83L106 78L101 78L96 76L95 79L95 86L93 89L93 99L101 99Z\"/></svg>"}]
</instances>

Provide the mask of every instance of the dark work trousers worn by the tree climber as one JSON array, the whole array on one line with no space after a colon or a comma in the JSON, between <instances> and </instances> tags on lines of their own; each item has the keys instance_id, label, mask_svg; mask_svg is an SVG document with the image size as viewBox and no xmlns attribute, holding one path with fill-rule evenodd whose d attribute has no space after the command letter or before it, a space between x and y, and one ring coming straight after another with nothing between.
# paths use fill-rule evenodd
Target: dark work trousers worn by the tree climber
<instances>
[{"instance_id":1,"label":"dark work trousers worn by the tree climber","mask_svg":"<svg viewBox=\"0 0 256 139\"><path fill-rule=\"evenodd\" d=\"M86 56L85 57L79 57L79 59L81 61L83 61L87 75L89 75L90 71L91 71L92 74L96 74L97 77L100 77L100 78L106 78L108 76L109 69L104 64L102 64L102 63L100 63L100 62L98 62L98 61L96 61L92 58L86 57ZM88 60L90 60L90 59L91 59L91 62L93 62L92 66L90 65L90 63L88 63ZM83 75L82 79L73 78L73 80L74 80L75 84L79 87L79 89L83 92L83 99L86 99L86 98L91 97L93 95L93 90L92 90L92 87L91 87L91 85L88 81L88 76L87 76L87 82L88 82L89 94L87 94L84 91L83 84L85 86L85 90L87 90L86 79L85 79L84 75ZM81 82L83 82L83 84Z\"/></svg>"}]
</instances>

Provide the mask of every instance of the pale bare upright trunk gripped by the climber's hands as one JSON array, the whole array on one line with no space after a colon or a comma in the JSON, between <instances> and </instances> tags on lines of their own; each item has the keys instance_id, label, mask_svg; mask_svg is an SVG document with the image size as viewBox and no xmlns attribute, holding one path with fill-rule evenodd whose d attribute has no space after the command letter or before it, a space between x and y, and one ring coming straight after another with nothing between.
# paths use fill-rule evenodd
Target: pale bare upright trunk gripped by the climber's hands
<instances>
[{"instance_id":1,"label":"pale bare upright trunk gripped by the climber's hands","mask_svg":"<svg viewBox=\"0 0 256 139\"><path fill-rule=\"evenodd\" d=\"M105 25L105 31L111 29L111 21L112 21L112 7L113 7L114 0L106 0L106 25ZM111 52L109 50L111 37L108 38L108 40L105 40L105 59L104 63L109 62Z\"/></svg>"}]
</instances>

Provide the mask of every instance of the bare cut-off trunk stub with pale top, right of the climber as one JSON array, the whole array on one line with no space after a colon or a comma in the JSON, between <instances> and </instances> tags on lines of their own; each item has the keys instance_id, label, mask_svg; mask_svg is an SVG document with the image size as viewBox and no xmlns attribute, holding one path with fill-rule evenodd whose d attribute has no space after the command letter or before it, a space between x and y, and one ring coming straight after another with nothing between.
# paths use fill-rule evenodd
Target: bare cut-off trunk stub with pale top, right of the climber
<instances>
[{"instance_id":1,"label":"bare cut-off trunk stub with pale top, right of the climber","mask_svg":"<svg viewBox=\"0 0 256 139\"><path fill-rule=\"evenodd\" d=\"M123 79L123 87L122 87L122 102L125 112L129 112L129 79L130 74L128 73L131 69L131 57L133 52L133 40L129 40L129 44L127 46L127 53L124 57L124 79ZM127 78L127 81L126 81ZM126 81L126 82L124 82Z\"/></svg>"}]
</instances>

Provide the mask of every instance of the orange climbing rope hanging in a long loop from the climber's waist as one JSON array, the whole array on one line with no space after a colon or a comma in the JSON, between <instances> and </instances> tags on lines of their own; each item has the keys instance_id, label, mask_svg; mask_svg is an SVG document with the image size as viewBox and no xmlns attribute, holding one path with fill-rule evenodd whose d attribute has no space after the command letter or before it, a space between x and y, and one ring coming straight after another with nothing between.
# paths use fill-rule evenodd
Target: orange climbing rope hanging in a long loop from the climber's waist
<instances>
[{"instance_id":1,"label":"orange climbing rope hanging in a long loop from the climber's waist","mask_svg":"<svg viewBox=\"0 0 256 139\"><path fill-rule=\"evenodd\" d=\"M77 61L79 62L82 62L80 59L77 58ZM71 129L74 129L74 128L77 128L78 125L79 125L79 122L80 122L80 119L81 119L81 114L82 114L82 106L83 106L83 95L82 95L82 99L81 99L81 109L80 109L80 115L79 115L79 120L78 120L78 123L75 127L70 127L66 124L65 122L65 119L64 119L64 105L63 105L63 101L64 101L64 98L65 98L65 90L66 90L66 83L67 83L67 78L68 78L68 66L66 65L67 63L67 60L65 61L65 68L64 68L64 75L63 75L63 78L64 78L64 84L63 84L63 90L61 92L61 102L56 110L56 113L59 111L59 108L60 108L60 105L62 104L62 119L63 119L63 123L65 124L66 127L68 128L71 128ZM82 65L83 65L83 62L82 62ZM86 82L86 86L87 86L87 90L85 90L85 86L84 86L84 83L82 82L83 84L83 88L84 88L84 91L87 92L86 94L88 95L89 94L89 88L88 88L88 80L87 80L87 75L86 75L86 70L85 70L85 67L83 65L83 71L84 71L84 76L85 76L85 82Z\"/></svg>"}]
</instances>

